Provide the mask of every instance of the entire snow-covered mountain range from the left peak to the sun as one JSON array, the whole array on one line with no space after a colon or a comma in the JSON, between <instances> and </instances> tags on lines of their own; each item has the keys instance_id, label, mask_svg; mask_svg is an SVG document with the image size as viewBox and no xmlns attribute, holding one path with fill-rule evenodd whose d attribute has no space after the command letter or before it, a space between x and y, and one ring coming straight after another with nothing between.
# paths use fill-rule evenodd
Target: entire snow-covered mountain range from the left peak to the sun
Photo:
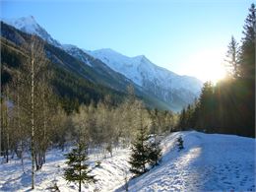
<instances>
[{"instance_id":1,"label":"entire snow-covered mountain range from the left peak to the sun","mask_svg":"<svg viewBox=\"0 0 256 192\"><path fill-rule=\"evenodd\" d=\"M175 111L180 110L199 96L203 86L198 79L180 76L161 68L144 55L128 57L109 48L89 51L72 44L61 44L40 27L32 16L12 20L3 19L3 21L23 32L37 34L48 43L65 50L101 74L124 76L121 79L127 78L128 81L132 81L143 95L156 97ZM120 78L117 79L120 80Z\"/></svg>"}]
</instances>

